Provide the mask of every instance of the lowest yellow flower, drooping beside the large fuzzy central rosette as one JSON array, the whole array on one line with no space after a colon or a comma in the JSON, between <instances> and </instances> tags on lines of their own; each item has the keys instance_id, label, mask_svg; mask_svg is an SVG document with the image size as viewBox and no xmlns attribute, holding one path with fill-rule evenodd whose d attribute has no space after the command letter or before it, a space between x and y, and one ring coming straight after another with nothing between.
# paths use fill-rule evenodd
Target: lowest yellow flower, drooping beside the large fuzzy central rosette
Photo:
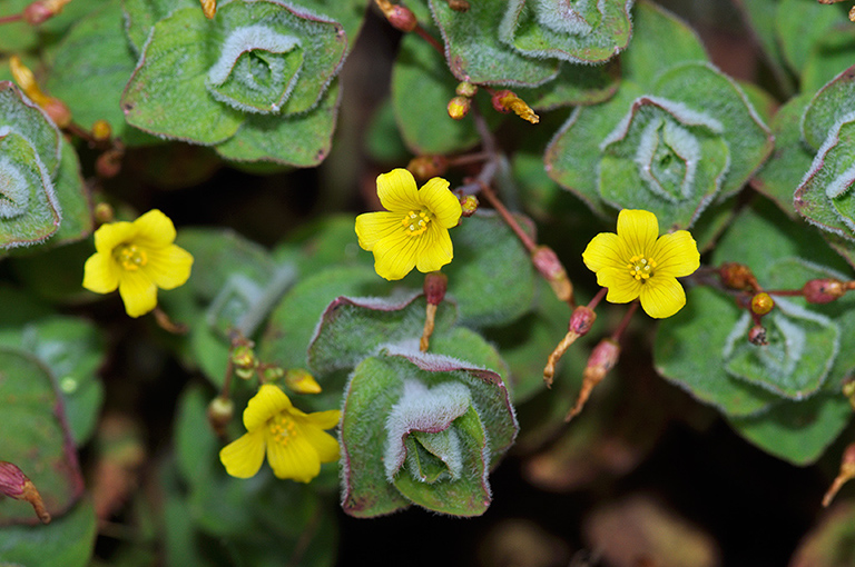
<instances>
[{"instance_id":1,"label":"lowest yellow flower, drooping beside the large fuzzy central rosette","mask_svg":"<svg viewBox=\"0 0 855 567\"><path fill-rule=\"evenodd\" d=\"M338 458L338 441L324 429L335 427L341 411L304 414L277 386L264 384L244 410L246 435L219 451L226 472L249 478L267 460L278 478L308 483L321 472L322 462Z\"/></svg>"}]
</instances>

